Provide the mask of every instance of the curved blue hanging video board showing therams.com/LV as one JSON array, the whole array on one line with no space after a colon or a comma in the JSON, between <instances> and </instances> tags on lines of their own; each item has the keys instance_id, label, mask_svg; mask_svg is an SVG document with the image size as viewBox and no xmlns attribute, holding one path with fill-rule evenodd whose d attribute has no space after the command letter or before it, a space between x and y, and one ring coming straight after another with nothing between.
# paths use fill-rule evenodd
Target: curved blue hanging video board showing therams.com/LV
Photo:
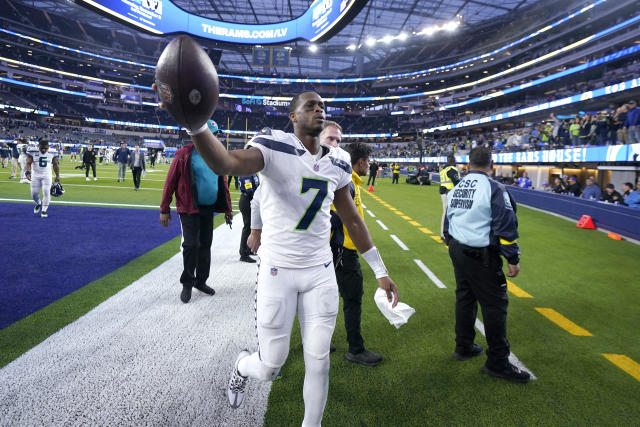
<instances>
[{"instance_id":1,"label":"curved blue hanging video board showing therams.com/LV","mask_svg":"<svg viewBox=\"0 0 640 427\"><path fill-rule=\"evenodd\" d=\"M283 43L297 39L316 41L350 11L366 0L315 0L301 16L275 24L239 24L189 13L171 0L78 0L80 4L153 34L188 33L222 42L243 44Z\"/></svg>"}]
</instances>

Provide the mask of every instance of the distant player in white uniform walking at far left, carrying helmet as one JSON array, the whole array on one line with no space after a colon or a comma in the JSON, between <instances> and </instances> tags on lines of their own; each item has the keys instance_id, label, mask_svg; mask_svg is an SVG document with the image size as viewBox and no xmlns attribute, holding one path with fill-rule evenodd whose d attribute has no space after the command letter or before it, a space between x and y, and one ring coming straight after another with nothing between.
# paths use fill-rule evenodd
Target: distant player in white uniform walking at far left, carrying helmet
<instances>
[{"instance_id":1,"label":"distant player in white uniform walking at far left, carrying helmet","mask_svg":"<svg viewBox=\"0 0 640 427\"><path fill-rule=\"evenodd\" d=\"M49 148L47 139L40 138L37 149L29 147L27 150L25 176L31 181L31 197L36 202L33 213L40 212L42 218L49 216L47 209L51 200L51 165L53 165L53 170L56 173L56 181L60 182L58 151ZM40 198L40 190L42 190L42 199Z\"/></svg>"}]
</instances>

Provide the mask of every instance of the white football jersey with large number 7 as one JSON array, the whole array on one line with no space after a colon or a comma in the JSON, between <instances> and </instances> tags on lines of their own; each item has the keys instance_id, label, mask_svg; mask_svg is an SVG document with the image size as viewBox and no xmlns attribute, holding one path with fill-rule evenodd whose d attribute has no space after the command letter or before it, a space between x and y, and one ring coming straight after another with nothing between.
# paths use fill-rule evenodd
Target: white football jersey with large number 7
<instances>
[{"instance_id":1,"label":"white football jersey with large number 7","mask_svg":"<svg viewBox=\"0 0 640 427\"><path fill-rule=\"evenodd\" d=\"M264 157L260 259L286 268L330 262L329 209L334 192L351 182L349 154L322 145L319 158L294 134L268 128L248 145L258 148Z\"/></svg>"}]
</instances>

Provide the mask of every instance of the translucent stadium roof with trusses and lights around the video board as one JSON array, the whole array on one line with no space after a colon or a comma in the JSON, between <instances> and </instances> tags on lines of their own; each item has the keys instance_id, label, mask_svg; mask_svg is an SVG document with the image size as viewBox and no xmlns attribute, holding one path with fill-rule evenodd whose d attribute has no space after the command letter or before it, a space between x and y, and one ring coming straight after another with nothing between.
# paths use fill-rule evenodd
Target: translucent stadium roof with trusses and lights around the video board
<instances>
[{"instance_id":1,"label":"translucent stadium roof with trusses and lights around the video board","mask_svg":"<svg viewBox=\"0 0 640 427\"><path fill-rule=\"evenodd\" d=\"M91 10L60 0L15 0L83 23L140 35L131 27L100 17ZM310 5L299 0L173 0L180 8L203 17L243 24L269 24L302 15ZM79 2L78 2L79 3ZM265 68L252 63L252 46L217 44L223 50L220 68L251 74L341 77L366 74L407 46L450 37L456 31L498 25L549 0L369 0L362 10L329 40L311 44L294 41L289 67ZM575 3L570 1L568 3ZM569 6L569 5L567 5ZM455 23L455 25L453 24ZM459 26L459 28L456 28ZM449 31L447 31L449 30ZM455 30L455 31L454 31ZM203 42L207 44L207 42ZM369 64L369 65L368 65Z\"/></svg>"}]
</instances>

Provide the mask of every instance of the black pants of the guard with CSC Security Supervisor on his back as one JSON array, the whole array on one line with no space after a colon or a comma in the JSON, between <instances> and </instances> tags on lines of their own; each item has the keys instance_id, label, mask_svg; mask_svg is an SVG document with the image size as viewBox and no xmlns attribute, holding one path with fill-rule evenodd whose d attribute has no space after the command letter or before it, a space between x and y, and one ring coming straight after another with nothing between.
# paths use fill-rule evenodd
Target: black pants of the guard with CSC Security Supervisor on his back
<instances>
[{"instance_id":1,"label":"black pants of the guard with CSC Security Supervisor on his back","mask_svg":"<svg viewBox=\"0 0 640 427\"><path fill-rule=\"evenodd\" d=\"M507 281L502 258L491 248L472 248L449 241L449 256L456 276L456 350L468 350L475 338L478 303L487 338L487 366L500 369L508 363Z\"/></svg>"}]
</instances>

